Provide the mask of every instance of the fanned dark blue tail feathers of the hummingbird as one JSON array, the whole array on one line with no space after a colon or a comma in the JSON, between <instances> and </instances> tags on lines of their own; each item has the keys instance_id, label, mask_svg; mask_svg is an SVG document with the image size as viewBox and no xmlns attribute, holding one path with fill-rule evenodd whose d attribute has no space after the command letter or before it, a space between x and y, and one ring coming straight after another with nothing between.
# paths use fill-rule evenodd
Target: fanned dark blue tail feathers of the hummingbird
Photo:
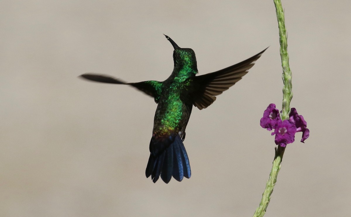
<instances>
[{"instance_id":1,"label":"fanned dark blue tail feathers of the hummingbird","mask_svg":"<svg viewBox=\"0 0 351 217\"><path fill-rule=\"evenodd\" d=\"M152 137L150 152L145 174L147 178L151 176L154 183L160 176L165 183L170 182L172 176L179 182L184 177L190 178L189 158L178 133L162 140Z\"/></svg>"}]
</instances>

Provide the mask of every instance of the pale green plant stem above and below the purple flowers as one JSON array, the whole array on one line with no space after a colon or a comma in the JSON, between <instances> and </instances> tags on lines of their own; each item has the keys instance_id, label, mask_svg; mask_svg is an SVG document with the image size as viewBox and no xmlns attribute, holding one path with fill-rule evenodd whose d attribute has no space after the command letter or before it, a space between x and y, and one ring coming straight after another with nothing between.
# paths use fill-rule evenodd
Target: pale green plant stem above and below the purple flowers
<instances>
[{"instance_id":1,"label":"pale green plant stem above and below the purple flowers","mask_svg":"<svg viewBox=\"0 0 351 217\"><path fill-rule=\"evenodd\" d=\"M290 113L290 101L292 99L291 92L291 71L289 67L289 55L287 53L287 37L286 37L286 29L285 29L285 19L284 19L284 11L282 8L282 3L280 0L273 0L274 5L276 6L277 12L277 20L279 27L279 43L280 43L280 58L282 59L282 67L283 67L283 103L282 103L282 120L289 119ZM262 199L259 207L256 209L254 213L254 217L262 217L266 213L267 206L271 199L271 194L273 192L274 185L277 182L278 172L280 170L280 166L282 163L283 155L284 155L285 147L276 148L276 153L273 160L273 166L271 173L269 175L269 179L266 184L266 189L262 194Z\"/></svg>"}]
</instances>

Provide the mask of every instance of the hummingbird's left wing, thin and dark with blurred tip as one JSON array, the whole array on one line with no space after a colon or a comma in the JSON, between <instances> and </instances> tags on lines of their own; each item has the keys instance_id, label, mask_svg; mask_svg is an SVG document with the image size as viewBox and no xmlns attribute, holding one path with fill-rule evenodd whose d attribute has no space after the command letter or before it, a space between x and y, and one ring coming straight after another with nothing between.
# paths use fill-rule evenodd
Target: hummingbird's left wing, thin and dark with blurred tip
<instances>
[{"instance_id":1,"label":"hummingbird's left wing, thin and dark with blurred tip","mask_svg":"<svg viewBox=\"0 0 351 217\"><path fill-rule=\"evenodd\" d=\"M91 73L82 74L80 75L80 77L85 78L87 80L97 81L101 83L131 85L137 88L138 90L143 91L147 95L153 97L156 103L158 103L158 100L161 95L162 82L160 81L142 81L138 83L127 83L120 79L113 78L109 75L91 74Z\"/></svg>"}]
</instances>

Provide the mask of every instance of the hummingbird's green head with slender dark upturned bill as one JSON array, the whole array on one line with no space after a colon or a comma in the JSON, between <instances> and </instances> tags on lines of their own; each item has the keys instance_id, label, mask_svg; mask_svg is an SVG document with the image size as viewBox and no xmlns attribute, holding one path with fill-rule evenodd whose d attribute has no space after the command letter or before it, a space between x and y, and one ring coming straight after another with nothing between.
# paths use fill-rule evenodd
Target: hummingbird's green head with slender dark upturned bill
<instances>
[{"instance_id":1,"label":"hummingbird's green head with slender dark upturned bill","mask_svg":"<svg viewBox=\"0 0 351 217\"><path fill-rule=\"evenodd\" d=\"M164 34L165 35L165 34ZM191 70L193 73L197 73L197 63L195 52L190 48L180 48L176 42L174 42L170 37L165 35L166 39L171 42L174 51L173 51L173 60L174 60L174 68L187 68Z\"/></svg>"}]
</instances>

